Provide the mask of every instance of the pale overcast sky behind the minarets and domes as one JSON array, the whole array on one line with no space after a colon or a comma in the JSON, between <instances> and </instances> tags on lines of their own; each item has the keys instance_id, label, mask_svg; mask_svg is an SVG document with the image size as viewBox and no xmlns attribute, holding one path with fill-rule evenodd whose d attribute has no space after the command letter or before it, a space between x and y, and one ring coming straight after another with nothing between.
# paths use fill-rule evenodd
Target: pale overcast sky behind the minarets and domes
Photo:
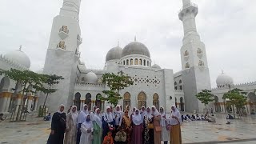
<instances>
[{"instance_id":1,"label":"pale overcast sky behind the minarets and domes","mask_svg":"<svg viewBox=\"0 0 256 144\"><path fill-rule=\"evenodd\" d=\"M222 70L234 83L256 80L256 1L192 0L198 4L196 24L210 68L212 86ZM50 30L62 0L1 0L0 54L22 50L31 70L43 68ZM102 69L110 48L144 43L153 62L182 69L182 0L82 0L80 26L82 60L87 68Z\"/></svg>"}]
</instances>

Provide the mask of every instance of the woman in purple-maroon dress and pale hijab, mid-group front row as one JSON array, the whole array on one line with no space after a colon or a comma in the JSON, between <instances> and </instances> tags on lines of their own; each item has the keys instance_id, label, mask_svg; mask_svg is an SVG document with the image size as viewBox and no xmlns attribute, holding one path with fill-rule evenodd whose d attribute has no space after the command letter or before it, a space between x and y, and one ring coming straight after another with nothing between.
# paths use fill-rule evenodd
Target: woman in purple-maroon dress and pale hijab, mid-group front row
<instances>
[{"instance_id":1,"label":"woman in purple-maroon dress and pale hijab, mid-group front row","mask_svg":"<svg viewBox=\"0 0 256 144\"><path fill-rule=\"evenodd\" d=\"M133 122L133 137L132 137L132 143L133 144L142 144L142 116L139 113L139 110L136 109L132 118Z\"/></svg>"}]
</instances>

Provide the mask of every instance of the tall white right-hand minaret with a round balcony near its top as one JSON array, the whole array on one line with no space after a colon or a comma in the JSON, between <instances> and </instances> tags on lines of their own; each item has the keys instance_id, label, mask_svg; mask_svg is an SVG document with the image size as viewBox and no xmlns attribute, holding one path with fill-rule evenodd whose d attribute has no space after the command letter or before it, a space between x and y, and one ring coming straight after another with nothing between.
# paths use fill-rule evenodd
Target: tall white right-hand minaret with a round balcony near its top
<instances>
[{"instance_id":1,"label":"tall white right-hand minaret with a round balcony near its top","mask_svg":"<svg viewBox=\"0 0 256 144\"><path fill-rule=\"evenodd\" d=\"M182 10L180 10L178 18L182 21L184 29L181 58L185 108L186 111L202 111L203 106L194 95L201 90L211 90L206 48L205 44L200 40L195 23L198 6L190 2L190 0L182 0L182 3Z\"/></svg>"}]
</instances>

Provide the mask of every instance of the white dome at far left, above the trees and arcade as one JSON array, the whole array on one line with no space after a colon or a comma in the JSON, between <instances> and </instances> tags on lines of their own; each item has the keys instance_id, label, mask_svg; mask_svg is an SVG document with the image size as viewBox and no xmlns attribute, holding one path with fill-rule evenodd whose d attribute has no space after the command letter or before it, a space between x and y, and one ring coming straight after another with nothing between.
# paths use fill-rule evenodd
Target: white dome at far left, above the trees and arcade
<instances>
[{"instance_id":1,"label":"white dome at far left, above the trees and arcade","mask_svg":"<svg viewBox=\"0 0 256 144\"><path fill-rule=\"evenodd\" d=\"M30 68L30 58L21 50L21 48L19 50L5 54L4 57L22 66L25 66L28 69Z\"/></svg>"}]
</instances>

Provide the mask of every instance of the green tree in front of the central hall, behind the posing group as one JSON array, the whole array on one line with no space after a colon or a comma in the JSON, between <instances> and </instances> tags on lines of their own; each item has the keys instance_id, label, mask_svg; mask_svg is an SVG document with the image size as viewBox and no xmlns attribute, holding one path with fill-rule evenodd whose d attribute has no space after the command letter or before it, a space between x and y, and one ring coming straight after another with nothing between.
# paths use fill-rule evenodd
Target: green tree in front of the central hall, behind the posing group
<instances>
[{"instance_id":1,"label":"green tree in front of the central hall, behind the posing group","mask_svg":"<svg viewBox=\"0 0 256 144\"><path fill-rule=\"evenodd\" d=\"M134 84L134 81L130 76L125 75L122 71L119 71L118 74L106 73L102 75L102 83L105 83L110 90L103 90L102 92L107 95L107 97L100 97L101 100L108 101L114 106L118 105L118 101L122 99L119 94L120 90L123 90L126 87Z\"/></svg>"}]
</instances>

